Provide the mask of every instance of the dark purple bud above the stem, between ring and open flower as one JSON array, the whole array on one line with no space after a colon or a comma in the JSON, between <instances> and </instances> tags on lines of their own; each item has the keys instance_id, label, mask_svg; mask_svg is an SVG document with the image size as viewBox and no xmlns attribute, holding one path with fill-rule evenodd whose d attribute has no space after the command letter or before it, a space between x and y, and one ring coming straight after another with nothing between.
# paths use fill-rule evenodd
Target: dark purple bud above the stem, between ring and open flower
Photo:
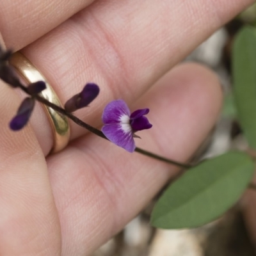
<instances>
[{"instance_id":1,"label":"dark purple bud above the stem, between ring and open flower","mask_svg":"<svg viewBox=\"0 0 256 256\"><path fill-rule=\"evenodd\" d=\"M65 109L68 112L74 112L77 109L84 108L97 97L99 92L100 88L97 84L87 83L81 93L74 95L66 102Z\"/></svg>"}]
</instances>

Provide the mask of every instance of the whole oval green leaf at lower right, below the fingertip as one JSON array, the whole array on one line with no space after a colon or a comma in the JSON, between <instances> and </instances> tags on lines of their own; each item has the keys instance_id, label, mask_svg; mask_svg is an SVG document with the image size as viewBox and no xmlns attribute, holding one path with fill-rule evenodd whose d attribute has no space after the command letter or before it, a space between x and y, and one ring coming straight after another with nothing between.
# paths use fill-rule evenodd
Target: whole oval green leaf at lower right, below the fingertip
<instances>
[{"instance_id":1,"label":"whole oval green leaf at lower right, below the fingertip","mask_svg":"<svg viewBox=\"0 0 256 256\"><path fill-rule=\"evenodd\" d=\"M195 228L230 208L252 179L254 163L242 152L229 152L189 169L164 191L152 212L158 228Z\"/></svg>"}]
</instances>

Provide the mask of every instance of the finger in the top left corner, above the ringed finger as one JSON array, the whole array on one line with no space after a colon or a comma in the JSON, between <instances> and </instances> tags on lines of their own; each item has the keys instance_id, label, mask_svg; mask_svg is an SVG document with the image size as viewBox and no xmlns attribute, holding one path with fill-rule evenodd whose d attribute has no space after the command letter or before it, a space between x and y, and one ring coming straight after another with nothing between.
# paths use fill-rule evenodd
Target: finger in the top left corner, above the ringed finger
<instances>
[{"instance_id":1,"label":"finger in the top left corner, above the ringed finger","mask_svg":"<svg viewBox=\"0 0 256 256\"><path fill-rule=\"evenodd\" d=\"M0 2L0 31L7 47L19 50L56 28L93 0Z\"/></svg>"}]
</instances>

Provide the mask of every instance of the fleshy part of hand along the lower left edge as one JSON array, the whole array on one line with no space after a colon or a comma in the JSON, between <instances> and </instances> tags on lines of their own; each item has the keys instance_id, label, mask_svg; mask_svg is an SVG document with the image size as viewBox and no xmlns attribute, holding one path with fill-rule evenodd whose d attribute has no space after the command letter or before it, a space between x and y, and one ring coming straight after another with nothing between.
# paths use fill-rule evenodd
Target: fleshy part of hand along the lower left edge
<instances>
[{"instance_id":1,"label":"fleshy part of hand along the lower left edge","mask_svg":"<svg viewBox=\"0 0 256 256\"><path fill-rule=\"evenodd\" d=\"M0 81L0 255L60 255L60 223L31 125L10 131L20 97Z\"/></svg>"}]
</instances>

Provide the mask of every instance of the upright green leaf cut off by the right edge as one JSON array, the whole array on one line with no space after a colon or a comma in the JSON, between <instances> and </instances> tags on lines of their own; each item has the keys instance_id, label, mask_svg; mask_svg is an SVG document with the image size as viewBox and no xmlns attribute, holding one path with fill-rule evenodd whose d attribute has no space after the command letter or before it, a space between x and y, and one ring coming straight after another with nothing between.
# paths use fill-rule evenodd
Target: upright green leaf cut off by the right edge
<instances>
[{"instance_id":1,"label":"upright green leaf cut off by the right edge","mask_svg":"<svg viewBox=\"0 0 256 256\"><path fill-rule=\"evenodd\" d=\"M238 33L232 52L234 97L239 122L250 147L256 149L256 29Z\"/></svg>"}]
</instances>

